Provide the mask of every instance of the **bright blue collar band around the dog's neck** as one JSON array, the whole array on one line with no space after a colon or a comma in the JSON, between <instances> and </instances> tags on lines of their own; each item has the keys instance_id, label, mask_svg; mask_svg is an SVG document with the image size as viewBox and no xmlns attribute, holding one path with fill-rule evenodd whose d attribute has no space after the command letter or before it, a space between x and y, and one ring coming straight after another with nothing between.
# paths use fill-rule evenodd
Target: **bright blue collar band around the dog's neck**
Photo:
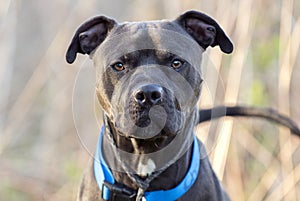
<instances>
[{"instance_id":1,"label":"bright blue collar band around the dog's neck","mask_svg":"<svg viewBox=\"0 0 300 201\"><path fill-rule=\"evenodd\" d=\"M94 174L100 190L102 191L102 198L104 200L110 200L110 188L107 187L109 184L115 184L115 179L112 172L107 166L103 155L102 155L102 138L104 134L104 127L101 128L100 136L98 140L98 147L96 149L94 159ZM174 201L183 196L195 183L199 169L200 169L200 149L197 137L194 137L193 142L193 155L192 162L189 167L187 174L184 179L173 189L170 190L157 190L157 191L146 191L142 200L145 201ZM100 162L100 163L99 163Z\"/></svg>"}]
</instances>

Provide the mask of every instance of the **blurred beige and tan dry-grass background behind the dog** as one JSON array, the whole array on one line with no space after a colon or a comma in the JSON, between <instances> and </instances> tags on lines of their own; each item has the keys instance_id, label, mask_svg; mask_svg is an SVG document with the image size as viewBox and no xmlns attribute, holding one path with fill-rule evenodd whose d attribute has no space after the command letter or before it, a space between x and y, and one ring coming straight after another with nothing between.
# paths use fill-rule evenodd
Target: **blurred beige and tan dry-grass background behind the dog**
<instances>
[{"instance_id":1,"label":"blurred beige and tan dry-grass background behind the dog","mask_svg":"<svg viewBox=\"0 0 300 201\"><path fill-rule=\"evenodd\" d=\"M75 200L101 116L92 62L64 59L76 28L99 14L122 22L174 19L189 9L216 19L235 45L231 55L204 54L213 69L206 82L219 76L223 95L207 84L200 107L272 107L300 126L300 1L1 0L1 201ZM300 139L288 129L223 118L196 130L232 200L300 200Z\"/></svg>"}]
</instances>

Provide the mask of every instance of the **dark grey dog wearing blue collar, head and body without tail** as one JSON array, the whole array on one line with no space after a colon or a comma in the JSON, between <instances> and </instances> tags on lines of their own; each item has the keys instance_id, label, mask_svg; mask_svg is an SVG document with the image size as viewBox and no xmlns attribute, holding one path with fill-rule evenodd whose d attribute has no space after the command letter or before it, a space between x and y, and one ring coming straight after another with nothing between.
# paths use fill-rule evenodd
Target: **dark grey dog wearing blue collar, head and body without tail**
<instances>
[{"instance_id":1,"label":"dark grey dog wearing blue collar, head and body without tail","mask_svg":"<svg viewBox=\"0 0 300 201\"><path fill-rule=\"evenodd\" d=\"M201 55L233 45L209 16L82 24L66 59L89 54L97 71L104 126L78 200L229 200L193 133L201 93Z\"/></svg>"}]
</instances>

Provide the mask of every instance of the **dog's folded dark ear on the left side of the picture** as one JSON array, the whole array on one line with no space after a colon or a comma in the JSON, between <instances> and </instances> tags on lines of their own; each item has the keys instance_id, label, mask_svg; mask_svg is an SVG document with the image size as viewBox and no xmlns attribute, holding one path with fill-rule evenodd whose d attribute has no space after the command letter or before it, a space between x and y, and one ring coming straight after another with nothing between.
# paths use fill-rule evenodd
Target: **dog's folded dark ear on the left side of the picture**
<instances>
[{"instance_id":1,"label":"dog's folded dark ear on the left side of the picture","mask_svg":"<svg viewBox=\"0 0 300 201\"><path fill-rule=\"evenodd\" d=\"M116 21L105 16L97 16L84 22L76 31L66 53L69 64L76 59L76 54L90 54L106 38Z\"/></svg>"}]
</instances>

